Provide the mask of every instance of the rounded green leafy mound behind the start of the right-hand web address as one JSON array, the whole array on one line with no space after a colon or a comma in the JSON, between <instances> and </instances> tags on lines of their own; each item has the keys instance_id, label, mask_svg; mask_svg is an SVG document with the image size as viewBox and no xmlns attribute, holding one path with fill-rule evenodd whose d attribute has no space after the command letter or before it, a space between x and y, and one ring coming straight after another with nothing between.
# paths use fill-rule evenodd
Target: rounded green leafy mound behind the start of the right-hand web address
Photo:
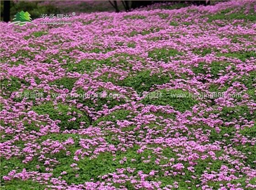
<instances>
[{"instance_id":1,"label":"rounded green leafy mound behind the start of the right-hand web address","mask_svg":"<svg viewBox=\"0 0 256 190\"><path fill-rule=\"evenodd\" d=\"M156 90L153 93L158 95L158 97L153 98L147 96L143 100L140 100L140 102L142 104L152 104L155 106L169 105L181 112L191 110L190 108L198 102L197 100L193 99L188 92L179 89Z\"/></svg>"}]
</instances>

